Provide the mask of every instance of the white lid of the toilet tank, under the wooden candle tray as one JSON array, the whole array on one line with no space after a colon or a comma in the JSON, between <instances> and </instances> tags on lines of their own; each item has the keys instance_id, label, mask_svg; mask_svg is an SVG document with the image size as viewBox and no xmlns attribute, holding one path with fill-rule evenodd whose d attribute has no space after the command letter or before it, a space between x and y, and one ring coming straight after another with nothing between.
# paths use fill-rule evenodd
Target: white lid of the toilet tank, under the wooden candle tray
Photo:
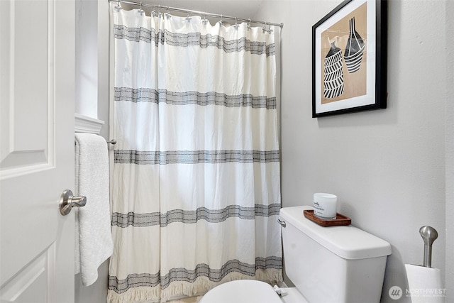
<instances>
[{"instance_id":1,"label":"white lid of the toilet tank, under the wooden candle tray","mask_svg":"<svg viewBox=\"0 0 454 303\"><path fill-rule=\"evenodd\" d=\"M355 260L391 255L391 245L387 241L352 225L320 226L304 216L304 209L314 208L284 207L280 217L341 258Z\"/></svg>"}]
</instances>

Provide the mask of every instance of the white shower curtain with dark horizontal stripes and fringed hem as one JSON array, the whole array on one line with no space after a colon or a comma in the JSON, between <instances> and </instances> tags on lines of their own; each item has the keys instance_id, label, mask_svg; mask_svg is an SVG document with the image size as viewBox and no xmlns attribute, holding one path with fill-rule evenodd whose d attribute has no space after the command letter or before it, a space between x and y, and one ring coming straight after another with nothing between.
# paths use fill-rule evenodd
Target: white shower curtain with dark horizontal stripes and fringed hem
<instances>
[{"instance_id":1,"label":"white shower curtain with dark horizontal stripes and fringed hem","mask_svg":"<svg viewBox=\"0 0 454 303\"><path fill-rule=\"evenodd\" d=\"M109 302L282 281L274 33L111 14Z\"/></svg>"}]
</instances>

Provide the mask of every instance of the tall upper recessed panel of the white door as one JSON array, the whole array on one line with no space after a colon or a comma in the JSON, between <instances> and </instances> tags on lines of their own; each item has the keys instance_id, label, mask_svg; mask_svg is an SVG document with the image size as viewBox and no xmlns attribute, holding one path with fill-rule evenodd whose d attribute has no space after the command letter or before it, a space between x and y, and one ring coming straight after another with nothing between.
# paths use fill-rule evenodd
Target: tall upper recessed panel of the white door
<instances>
[{"instance_id":1,"label":"tall upper recessed panel of the white door","mask_svg":"<svg viewBox=\"0 0 454 303\"><path fill-rule=\"evenodd\" d=\"M47 22L53 11L44 1L8 1L1 6L1 91L5 94L1 110L5 112L0 167L2 175L15 175L53 166L53 155L48 153L53 144L48 133L48 123L54 122L48 116L53 100L48 89L54 80L50 57L54 28L48 28ZM30 23L31 13L36 16Z\"/></svg>"}]
</instances>

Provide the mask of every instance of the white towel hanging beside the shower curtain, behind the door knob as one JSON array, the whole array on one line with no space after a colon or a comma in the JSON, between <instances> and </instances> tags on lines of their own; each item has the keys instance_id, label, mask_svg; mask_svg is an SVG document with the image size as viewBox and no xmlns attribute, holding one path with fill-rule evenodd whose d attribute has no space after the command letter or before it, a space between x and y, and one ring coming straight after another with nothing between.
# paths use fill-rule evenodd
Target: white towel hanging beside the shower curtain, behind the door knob
<instances>
[{"instance_id":1,"label":"white towel hanging beside the shower curtain, behind the door knob","mask_svg":"<svg viewBox=\"0 0 454 303\"><path fill-rule=\"evenodd\" d=\"M98 268L112 255L109 204L109 152L101 136L75 134L75 172L77 196L87 197L84 207L76 210L75 269L81 272L82 285L92 285Z\"/></svg>"}]
</instances>

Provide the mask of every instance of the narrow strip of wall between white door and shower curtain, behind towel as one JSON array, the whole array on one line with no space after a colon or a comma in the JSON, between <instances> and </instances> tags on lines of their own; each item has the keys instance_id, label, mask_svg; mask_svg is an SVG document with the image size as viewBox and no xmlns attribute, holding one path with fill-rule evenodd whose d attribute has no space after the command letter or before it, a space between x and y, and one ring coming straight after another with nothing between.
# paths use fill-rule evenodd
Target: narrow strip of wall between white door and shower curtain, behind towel
<instances>
[{"instance_id":1,"label":"narrow strip of wall between white door and shower curtain, behind towel","mask_svg":"<svg viewBox=\"0 0 454 303\"><path fill-rule=\"evenodd\" d=\"M104 121L100 135L109 140L109 1L76 0L75 112ZM104 303L109 260L89 287L75 276L75 303Z\"/></svg>"}]
</instances>

